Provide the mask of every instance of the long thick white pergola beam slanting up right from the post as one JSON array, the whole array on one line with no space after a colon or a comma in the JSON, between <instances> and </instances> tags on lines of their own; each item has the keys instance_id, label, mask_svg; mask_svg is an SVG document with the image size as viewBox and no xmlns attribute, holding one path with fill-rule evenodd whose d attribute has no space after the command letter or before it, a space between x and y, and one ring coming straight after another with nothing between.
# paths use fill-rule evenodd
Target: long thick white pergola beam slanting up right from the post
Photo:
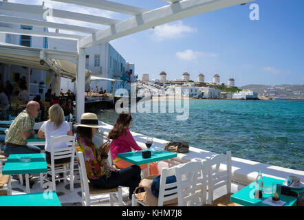
<instances>
[{"instance_id":1,"label":"long thick white pergola beam slanting up right from the post","mask_svg":"<svg viewBox=\"0 0 304 220\"><path fill-rule=\"evenodd\" d=\"M254 0L184 0L162 8L138 14L131 19L121 21L110 28L100 30L95 34L86 36L78 42L80 47L87 48L100 43L105 43L122 36L154 28L164 23L177 21L197 14L204 14L232 5L239 5Z\"/></svg>"}]
</instances>

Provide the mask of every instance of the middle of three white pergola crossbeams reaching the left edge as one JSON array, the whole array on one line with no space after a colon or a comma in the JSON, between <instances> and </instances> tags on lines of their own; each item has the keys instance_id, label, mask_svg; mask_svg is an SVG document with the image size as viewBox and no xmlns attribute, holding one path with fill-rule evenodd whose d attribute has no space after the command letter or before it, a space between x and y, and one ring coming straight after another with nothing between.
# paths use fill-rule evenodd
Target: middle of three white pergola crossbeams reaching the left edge
<instances>
[{"instance_id":1,"label":"middle of three white pergola crossbeams reaching the left edge","mask_svg":"<svg viewBox=\"0 0 304 220\"><path fill-rule=\"evenodd\" d=\"M80 27L76 25L66 25L62 23L55 23L55 22L48 22L48 21L41 21L36 19L25 19L21 17L12 17L7 15L1 15L0 14L0 22L3 23L17 23L17 24L23 24L23 25L33 25L36 27L41 28L55 28L55 29L61 29L61 30L70 30L74 32L83 32L83 33L89 33L93 34L98 31L98 29L94 28L85 28Z\"/></svg>"}]
</instances>

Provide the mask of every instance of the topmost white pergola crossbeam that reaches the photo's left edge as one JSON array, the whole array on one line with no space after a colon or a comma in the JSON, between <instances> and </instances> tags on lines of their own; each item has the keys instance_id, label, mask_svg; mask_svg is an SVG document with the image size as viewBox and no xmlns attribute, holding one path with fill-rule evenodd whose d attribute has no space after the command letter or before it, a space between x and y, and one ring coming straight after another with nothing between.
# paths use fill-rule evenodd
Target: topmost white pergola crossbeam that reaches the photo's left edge
<instances>
[{"instance_id":1,"label":"topmost white pergola crossbeam that reaches the photo's left edge","mask_svg":"<svg viewBox=\"0 0 304 220\"><path fill-rule=\"evenodd\" d=\"M69 11L58 10L53 8L43 8L42 5L24 5L19 3L8 3L8 2L0 1L0 10L25 12L30 14L45 14L51 17L72 19L76 21L86 21L90 23L99 23L102 25L113 25L114 23L120 22L120 20L118 19L109 19L105 17L98 17L89 14L81 14L77 12L69 12Z\"/></svg>"}]
</instances>

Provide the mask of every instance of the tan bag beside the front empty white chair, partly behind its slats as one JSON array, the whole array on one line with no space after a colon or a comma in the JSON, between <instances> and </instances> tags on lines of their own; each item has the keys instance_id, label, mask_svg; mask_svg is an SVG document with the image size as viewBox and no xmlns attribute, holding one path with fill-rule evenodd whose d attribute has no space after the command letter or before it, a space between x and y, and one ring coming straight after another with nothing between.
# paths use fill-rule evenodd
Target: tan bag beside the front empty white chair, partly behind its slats
<instances>
[{"instance_id":1,"label":"tan bag beside the front empty white chair, partly behind its slats","mask_svg":"<svg viewBox=\"0 0 304 220\"><path fill-rule=\"evenodd\" d=\"M137 188L135 188L133 194L136 199L142 201L146 206L158 206L158 198L153 195L151 191L151 185L153 183L153 179L158 177L159 175L149 175L147 177L142 178L140 184ZM171 204L177 203L177 198L171 199L169 201L164 201L164 206L169 206Z\"/></svg>"}]
</instances>

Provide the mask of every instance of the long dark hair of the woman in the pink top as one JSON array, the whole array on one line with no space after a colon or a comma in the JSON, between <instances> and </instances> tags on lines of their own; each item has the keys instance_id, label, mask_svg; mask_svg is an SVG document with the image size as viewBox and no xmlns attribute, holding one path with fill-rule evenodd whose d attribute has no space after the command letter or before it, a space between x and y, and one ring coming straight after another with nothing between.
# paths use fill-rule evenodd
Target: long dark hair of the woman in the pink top
<instances>
[{"instance_id":1,"label":"long dark hair of the woman in the pink top","mask_svg":"<svg viewBox=\"0 0 304 220\"><path fill-rule=\"evenodd\" d=\"M113 129L109 132L108 138L111 140L116 140L124 131L127 130L129 124L132 120L131 113L120 113L113 126Z\"/></svg>"}]
</instances>

